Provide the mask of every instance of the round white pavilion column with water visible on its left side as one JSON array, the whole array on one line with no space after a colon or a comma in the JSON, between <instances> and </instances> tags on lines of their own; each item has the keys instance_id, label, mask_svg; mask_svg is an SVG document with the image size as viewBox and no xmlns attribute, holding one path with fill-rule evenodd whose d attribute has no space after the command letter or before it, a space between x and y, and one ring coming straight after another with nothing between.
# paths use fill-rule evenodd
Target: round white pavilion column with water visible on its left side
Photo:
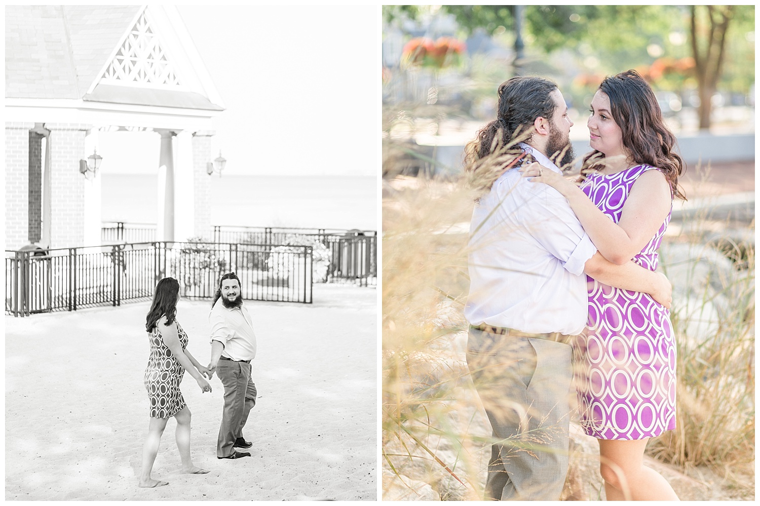
<instances>
[{"instance_id":1,"label":"round white pavilion column with water visible on its left side","mask_svg":"<svg viewBox=\"0 0 760 506\"><path fill-rule=\"evenodd\" d=\"M195 185L192 173L192 132L182 131L174 139L174 240L195 236Z\"/></svg>"}]
</instances>

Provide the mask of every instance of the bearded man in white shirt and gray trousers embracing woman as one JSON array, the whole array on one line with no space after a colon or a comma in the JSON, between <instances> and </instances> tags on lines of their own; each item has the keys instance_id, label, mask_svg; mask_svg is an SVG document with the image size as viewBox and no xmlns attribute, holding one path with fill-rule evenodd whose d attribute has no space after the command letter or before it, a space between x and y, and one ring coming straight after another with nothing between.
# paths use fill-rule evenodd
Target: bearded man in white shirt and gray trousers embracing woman
<instances>
[{"instance_id":1,"label":"bearded man in white shirt and gray trousers embracing woman","mask_svg":"<svg viewBox=\"0 0 760 506\"><path fill-rule=\"evenodd\" d=\"M511 78L499 86L497 119L467 145L467 169L485 169L495 150L530 129L518 144L530 155L524 158L561 173L549 159L567 147L558 163L572 161L567 111L553 82ZM517 167L478 201L469 246L467 365L494 438L485 498L559 500L569 453L568 342L588 315L584 273L667 307L670 283L633 262L606 261L562 194L527 181Z\"/></svg>"}]
</instances>

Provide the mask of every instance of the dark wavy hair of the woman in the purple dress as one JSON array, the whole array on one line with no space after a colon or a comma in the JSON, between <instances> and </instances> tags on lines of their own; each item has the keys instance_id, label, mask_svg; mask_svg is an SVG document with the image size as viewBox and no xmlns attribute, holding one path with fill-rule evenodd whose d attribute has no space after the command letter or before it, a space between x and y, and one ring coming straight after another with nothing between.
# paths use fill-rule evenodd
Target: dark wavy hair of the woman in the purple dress
<instances>
[{"instance_id":1,"label":"dark wavy hair of the woman in the purple dress","mask_svg":"<svg viewBox=\"0 0 760 506\"><path fill-rule=\"evenodd\" d=\"M678 176L686 172L686 163L673 149L676 136L667 128L657 97L651 86L637 71L629 70L605 77L599 90L610 97L610 112L622 131L622 144L631 151L629 163L646 163L660 169L665 175L673 197L686 200L678 188ZM603 165L589 161L601 159L597 150L587 154L583 161L590 170Z\"/></svg>"}]
</instances>

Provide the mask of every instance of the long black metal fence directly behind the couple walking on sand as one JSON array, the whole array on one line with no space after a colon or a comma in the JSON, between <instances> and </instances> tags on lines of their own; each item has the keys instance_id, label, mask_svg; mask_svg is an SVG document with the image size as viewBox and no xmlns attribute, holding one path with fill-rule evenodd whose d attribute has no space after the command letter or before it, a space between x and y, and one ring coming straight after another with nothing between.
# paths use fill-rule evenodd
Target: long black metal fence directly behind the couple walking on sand
<instances>
[{"instance_id":1,"label":"long black metal fence directly behind the couple walking on sand","mask_svg":"<svg viewBox=\"0 0 760 506\"><path fill-rule=\"evenodd\" d=\"M312 248L211 242L138 242L5 251L5 313L75 311L150 299L175 277L185 297L211 299L234 271L248 300L312 302Z\"/></svg>"}]
</instances>

